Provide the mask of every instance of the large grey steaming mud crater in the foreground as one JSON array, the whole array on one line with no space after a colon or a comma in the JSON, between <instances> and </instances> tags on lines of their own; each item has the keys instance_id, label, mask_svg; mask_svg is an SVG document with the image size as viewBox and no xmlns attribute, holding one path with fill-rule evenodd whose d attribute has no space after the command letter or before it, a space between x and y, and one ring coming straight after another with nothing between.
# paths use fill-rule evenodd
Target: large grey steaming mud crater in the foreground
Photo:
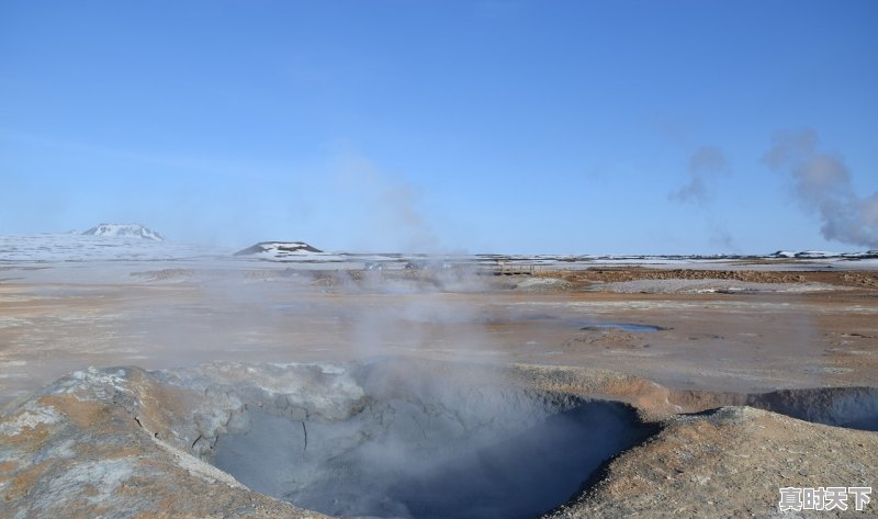
<instances>
[{"instance_id":1,"label":"large grey steaming mud crater in the foreground","mask_svg":"<svg viewBox=\"0 0 878 519\"><path fill-rule=\"evenodd\" d=\"M252 490L333 516L536 517L645 436L623 404L515 387L485 370L240 370L205 387L232 408L195 416L193 451Z\"/></svg>"}]
</instances>

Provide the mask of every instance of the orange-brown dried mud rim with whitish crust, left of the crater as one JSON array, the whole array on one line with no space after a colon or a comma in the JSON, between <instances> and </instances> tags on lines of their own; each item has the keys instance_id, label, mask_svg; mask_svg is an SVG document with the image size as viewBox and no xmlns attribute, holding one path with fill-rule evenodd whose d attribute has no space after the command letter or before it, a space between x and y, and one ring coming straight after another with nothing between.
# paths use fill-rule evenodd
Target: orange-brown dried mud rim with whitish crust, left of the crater
<instances>
[{"instance_id":1,"label":"orange-brown dried mud rim with whitish crust, left of the crater","mask_svg":"<svg viewBox=\"0 0 878 519\"><path fill-rule=\"evenodd\" d=\"M198 396L138 369L77 372L35 394L0 417L0 517L325 517L189 453L167 425Z\"/></svg>"}]
</instances>

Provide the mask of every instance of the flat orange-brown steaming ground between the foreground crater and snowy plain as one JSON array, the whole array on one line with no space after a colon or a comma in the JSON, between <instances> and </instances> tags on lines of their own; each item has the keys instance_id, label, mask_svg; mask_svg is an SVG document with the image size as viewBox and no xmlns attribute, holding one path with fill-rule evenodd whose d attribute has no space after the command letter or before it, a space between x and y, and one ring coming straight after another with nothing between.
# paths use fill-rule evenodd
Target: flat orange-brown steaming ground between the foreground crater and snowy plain
<instances>
[{"instance_id":1,"label":"flat orange-brown steaming ground between the foreground crater and snowy plain","mask_svg":"<svg viewBox=\"0 0 878 519\"><path fill-rule=\"evenodd\" d=\"M0 405L89 365L215 360L415 354L605 368L671 387L738 392L871 385L878 374L876 272L600 269L450 287L418 280L416 289L403 274L383 275L364 283L342 274L339 283L325 274L248 271L229 280L159 270L125 283L2 283ZM721 291L677 283L661 293L705 278ZM545 279L563 282L533 283ZM723 290L729 279L744 283ZM619 282L648 284L634 293L600 284ZM612 323L664 329L593 326Z\"/></svg>"}]
</instances>

